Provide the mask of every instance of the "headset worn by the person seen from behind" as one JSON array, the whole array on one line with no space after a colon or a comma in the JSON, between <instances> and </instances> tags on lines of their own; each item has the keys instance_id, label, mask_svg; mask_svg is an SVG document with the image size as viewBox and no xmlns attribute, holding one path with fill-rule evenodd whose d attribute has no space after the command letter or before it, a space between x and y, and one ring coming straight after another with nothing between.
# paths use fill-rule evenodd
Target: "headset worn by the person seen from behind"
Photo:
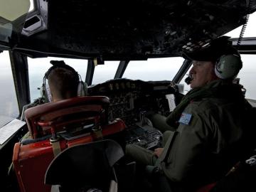
<instances>
[{"instance_id":1,"label":"headset worn by the person seen from behind","mask_svg":"<svg viewBox=\"0 0 256 192\"><path fill-rule=\"evenodd\" d=\"M46 102L52 102L53 98L51 96L50 93L50 87L48 85L48 75L50 74L50 72L52 70L54 70L55 68L64 68L66 70L71 71L72 73L74 73L75 75L78 76L78 97L82 97L87 95L87 84L85 82L82 82L82 78L80 76L80 74L75 71L72 67L70 67L70 65L65 64L65 62L63 60L50 60L50 63L53 65L52 67L50 67L48 69L48 71L46 72L46 74L43 77L43 85L41 87L41 97L44 98L44 100Z\"/></svg>"}]
</instances>

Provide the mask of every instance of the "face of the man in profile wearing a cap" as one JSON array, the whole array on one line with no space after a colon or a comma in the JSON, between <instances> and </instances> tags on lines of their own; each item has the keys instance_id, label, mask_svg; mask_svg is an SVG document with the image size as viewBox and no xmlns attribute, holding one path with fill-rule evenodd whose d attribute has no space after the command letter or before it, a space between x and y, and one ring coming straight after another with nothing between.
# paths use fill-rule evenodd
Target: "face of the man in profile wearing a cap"
<instances>
[{"instance_id":1,"label":"face of the man in profile wearing a cap","mask_svg":"<svg viewBox=\"0 0 256 192\"><path fill-rule=\"evenodd\" d=\"M211 61L193 60L193 67L189 71L193 78L191 88L203 87L208 82L216 79L213 66L214 64Z\"/></svg>"}]
</instances>

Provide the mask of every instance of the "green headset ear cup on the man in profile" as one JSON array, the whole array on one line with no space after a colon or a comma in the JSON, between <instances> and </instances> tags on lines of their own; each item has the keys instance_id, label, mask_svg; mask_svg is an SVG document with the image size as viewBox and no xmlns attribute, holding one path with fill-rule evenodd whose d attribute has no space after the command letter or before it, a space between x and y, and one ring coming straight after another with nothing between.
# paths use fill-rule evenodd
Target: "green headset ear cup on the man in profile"
<instances>
[{"instance_id":1,"label":"green headset ear cup on the man in profile","mask_svg":"<svg viewBox=\"0 0 256 192\"><path fill-rule=\"evenodd\" d=\"M215 63L215 75L220 79L235 78L242 68L242 60L238 55L222 55Z\"/></svg>"}]
</instances>

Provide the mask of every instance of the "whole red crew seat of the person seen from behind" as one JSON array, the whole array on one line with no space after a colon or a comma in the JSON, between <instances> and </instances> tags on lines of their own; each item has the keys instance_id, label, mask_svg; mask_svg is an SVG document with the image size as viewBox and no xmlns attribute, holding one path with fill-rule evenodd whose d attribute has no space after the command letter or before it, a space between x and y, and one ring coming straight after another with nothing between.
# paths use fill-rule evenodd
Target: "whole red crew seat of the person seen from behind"
<instances>
[{"instance_id":1,"label":"whole red crew seat of the person seen from behind","mask_svg":"<svg viewBox=\"0 0 256 192\"><path fill-rule=\"evenodd\" d=\"M46 170L64 149L104 139L125 129L122 119L108 121L108 97L74 97L31 107L25 112L32 139L14 146L13 163L21 191L48 192Z\"/></svg>"}]
</instances>

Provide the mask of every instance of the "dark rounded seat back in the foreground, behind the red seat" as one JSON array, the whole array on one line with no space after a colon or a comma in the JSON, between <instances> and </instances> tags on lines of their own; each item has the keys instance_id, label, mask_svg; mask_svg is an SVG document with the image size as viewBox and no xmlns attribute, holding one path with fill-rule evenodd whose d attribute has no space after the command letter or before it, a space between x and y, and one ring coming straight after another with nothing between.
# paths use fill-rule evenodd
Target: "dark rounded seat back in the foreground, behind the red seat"
<instances>
[{"instance_id":1,"label":"dark rounded seat back in the foreground, behind the red seat","mask_svg":"<svg viewBox=\"0 0 256 192\"><path fill-rule=\"evenodd\" d=\"M122 156L122 147L112 140L72 146L50 163L45 183L60 185L64 191L80 188L109 191L110 182L117 182L113 166Z\"/></svg>"}]
</instances>

